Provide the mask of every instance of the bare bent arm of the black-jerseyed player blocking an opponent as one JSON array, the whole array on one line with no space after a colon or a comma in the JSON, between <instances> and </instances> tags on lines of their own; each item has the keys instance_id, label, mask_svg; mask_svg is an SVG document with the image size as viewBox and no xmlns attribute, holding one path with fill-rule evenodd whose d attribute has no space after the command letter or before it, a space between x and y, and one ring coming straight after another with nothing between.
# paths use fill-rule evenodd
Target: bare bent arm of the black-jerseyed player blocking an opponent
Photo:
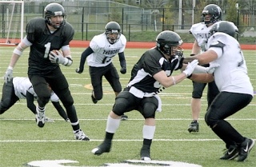
<instances>
[{"instance_id":1,"label":"bare bent arm of the black-jerseyed player blocking an opponent","mask_svg":"<svg viewBox=\"0 0 256 167\"><path fill-rule=\"evenodd\" d=\"M162 70L157 74L154 74L153 78L157 80L161 85L168 88L171 85L176 85L179 82L182 82L184 79L186 79L186 74L181 73L175 76L167 77L166 72Z\"/></svg>"}]
</instances>

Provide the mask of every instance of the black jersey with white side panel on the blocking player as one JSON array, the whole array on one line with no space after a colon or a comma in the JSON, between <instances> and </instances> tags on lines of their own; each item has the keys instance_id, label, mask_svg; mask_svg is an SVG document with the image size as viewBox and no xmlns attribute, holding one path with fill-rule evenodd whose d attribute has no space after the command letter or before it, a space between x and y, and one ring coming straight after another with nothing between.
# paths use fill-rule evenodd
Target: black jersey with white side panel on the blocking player
<instances>
[{"instance_id":1,"label":"black jersey with white side panel on the blocking player","mask_svg":"<svg viewBox=\"0 0 256 167\"><path fill-rule=\"evenodd\" d=\"M134 86L145 93L156 93L161 85L153 75L164 70L166 75L170 76L174 70L172 66L176 66L177 63L175 61L175 65L172 65L156 48L147 50L131 70L128 86Z\"/></svg>"}]
</instances>

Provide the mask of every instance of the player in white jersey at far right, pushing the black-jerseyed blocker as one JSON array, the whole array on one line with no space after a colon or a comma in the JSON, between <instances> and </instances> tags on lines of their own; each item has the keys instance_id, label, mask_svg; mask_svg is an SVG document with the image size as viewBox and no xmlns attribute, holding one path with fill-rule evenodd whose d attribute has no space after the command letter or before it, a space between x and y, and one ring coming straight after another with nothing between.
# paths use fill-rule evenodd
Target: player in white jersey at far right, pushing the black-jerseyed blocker
<instances>
[{"instance_id":1,"label":"player in white jersey at far right, pushing the black-jerseyed blocker","mask_svg":"<svg viewBox=\"0 0 256 167\"><path fill-rule=\"evenodd\" d=\"M226 144L226 152L222 160L245 161L254 146L254 140L242 136L228 121L250 104L254 97L254 89L247 74L246 60L235 37L236 29L232 22L219 21L210 30L205 53L185 58L184 61L198 59L201 64L218 65L213 74L192 74L194 82L215 81L220 93L207 109L205 121L210 129Z\"/></svg>"}]
</instances>

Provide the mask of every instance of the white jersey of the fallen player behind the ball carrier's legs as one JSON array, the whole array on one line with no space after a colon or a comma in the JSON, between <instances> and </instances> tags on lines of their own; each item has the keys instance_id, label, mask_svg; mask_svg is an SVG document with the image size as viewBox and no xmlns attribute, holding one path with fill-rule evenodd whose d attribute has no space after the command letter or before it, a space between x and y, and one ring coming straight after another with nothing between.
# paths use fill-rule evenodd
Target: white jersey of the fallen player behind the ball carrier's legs
<instances>
[{"instance_id":1,"label":"white jersey of the fallen player behind the ball carrier's legs","mask_svg":"<svg viewBox=\"0 0 256 167\"><path fill-rule=\"evenodd\" d=\"M34 92L34 88L29 78L15 77L13 79L14 93L19 99L26 99L26 91L33 94L34 99L38 98L38 95ZM55 93L51 93L50 101L59 101L58 96Z\"/></svg>"}]
</instances>

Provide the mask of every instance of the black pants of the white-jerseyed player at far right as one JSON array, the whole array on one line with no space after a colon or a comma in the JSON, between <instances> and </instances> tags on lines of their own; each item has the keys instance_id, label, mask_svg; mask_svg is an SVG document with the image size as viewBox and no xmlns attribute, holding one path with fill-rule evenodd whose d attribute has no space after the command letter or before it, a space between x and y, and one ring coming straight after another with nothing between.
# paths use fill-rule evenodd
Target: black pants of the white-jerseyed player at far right
<instances>
[{"instance_id":1,"label":"black pants of the white-jerseyed player at far right","mask_svg":"<svg viewBox=\"0 0 256 167\"><path fill-rule=\"evenodd\" d=\"M221 92L207 110L206 124L226 143L226 148L242 143L244 137L224 119L246 107L252 99L250 94Z\"/></svg>"}]
</instances>

